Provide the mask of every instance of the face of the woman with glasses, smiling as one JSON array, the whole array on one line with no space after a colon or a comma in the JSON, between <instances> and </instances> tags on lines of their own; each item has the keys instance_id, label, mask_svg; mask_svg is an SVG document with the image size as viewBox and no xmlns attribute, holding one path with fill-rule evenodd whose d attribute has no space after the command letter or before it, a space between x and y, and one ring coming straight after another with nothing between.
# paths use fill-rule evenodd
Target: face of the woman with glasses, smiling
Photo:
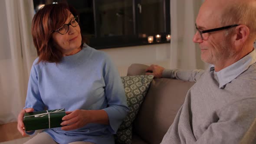
<instances>
[{"instance_id":1,"label":"face of the woman with glasses, smiling","mask_svg":"<svg viewBox=\"0 0 256 144\"><path fill-rule=\"evenodd\" d=\"M70 13L70 12L69 12ZM69 18L65 24L72 22L74 16L72 13L69 14ZM63 53L63 56L73 55L81 50L82 36L80 33L79 25L73 27L69 25L69 31L62 35L58 32L53 33L53 41Z\"/></svg>"}]
</instances>

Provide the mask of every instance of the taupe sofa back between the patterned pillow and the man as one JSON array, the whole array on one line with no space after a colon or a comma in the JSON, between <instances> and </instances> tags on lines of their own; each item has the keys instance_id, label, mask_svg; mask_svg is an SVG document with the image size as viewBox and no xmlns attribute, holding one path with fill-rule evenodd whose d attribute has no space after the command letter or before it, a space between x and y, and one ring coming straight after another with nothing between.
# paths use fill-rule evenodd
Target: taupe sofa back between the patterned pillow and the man
<instances>
[{"instance_id":1,"label":"taupe sofa back between the patterned pillow and the man","mask_svg":"<svg viewBox=\"0 0 256 144\"><path fill-rule=\"evenodd\" d=\"M143 75L148 65L132 64L127 75ZM132 127L132 144L160 144L194 82L153 79Z\"/></svg>"}]
</instances>

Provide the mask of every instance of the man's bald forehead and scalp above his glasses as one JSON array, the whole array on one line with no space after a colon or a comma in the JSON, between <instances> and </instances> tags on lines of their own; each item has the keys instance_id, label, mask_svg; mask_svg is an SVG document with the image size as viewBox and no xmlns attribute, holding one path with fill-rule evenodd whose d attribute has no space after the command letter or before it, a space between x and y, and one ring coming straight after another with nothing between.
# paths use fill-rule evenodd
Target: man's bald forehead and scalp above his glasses
<instances>
[{"instance_id":1,"label":"man's bald forehead and scalp above his glasses","mask_svg":"<svg viewBox=\"0 0 256 144\"><path fill-rule=\"evenodd\" d=\"M250 30L249 38L256 39L256 0L205 0L196 23L208 29L244 24Z\"/></svg>"}]
</instances>

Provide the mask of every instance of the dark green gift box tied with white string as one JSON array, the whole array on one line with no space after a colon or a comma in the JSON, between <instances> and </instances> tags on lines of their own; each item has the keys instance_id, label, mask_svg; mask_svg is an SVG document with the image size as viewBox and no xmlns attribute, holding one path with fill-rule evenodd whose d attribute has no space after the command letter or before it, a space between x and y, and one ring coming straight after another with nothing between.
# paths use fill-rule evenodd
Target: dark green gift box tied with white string
<instances>
[{"instance_id":1,"label":"dark green gift box tied with white string","mask_svg":"<svg viewBox=\"0 0 256 144\"><path fill-rule=\"evenodd\" d=\"M60 123L66 115L65 109L35 111L25 113L23 123L26 131L62 127Z\"/></svg>"}]
</instances>

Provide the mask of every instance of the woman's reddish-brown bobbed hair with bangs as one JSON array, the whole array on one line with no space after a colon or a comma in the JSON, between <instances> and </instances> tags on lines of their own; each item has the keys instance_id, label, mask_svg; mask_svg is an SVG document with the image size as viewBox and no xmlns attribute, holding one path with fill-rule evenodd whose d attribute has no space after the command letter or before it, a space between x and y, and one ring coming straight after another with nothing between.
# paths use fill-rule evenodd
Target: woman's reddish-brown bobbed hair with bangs
<instances>
[{"instance_id":1,"label":"woman's reddish-brown bobbed hair with bangs","mask_svg":"<svg viewBox=\"0 0 256 144\"><path fill-rule=\"evenodd\" d=\"M62 60L62 52L56 48L52 33L65 23L69 17L69 11L74 16L78 16L73 7L65 3L58 3L45 5L33 17L31 30L37 56L39 56L38 63L41 61L58 63ZM82 45L85 41L82 36Z\"/></svg>"}]
</instances>

